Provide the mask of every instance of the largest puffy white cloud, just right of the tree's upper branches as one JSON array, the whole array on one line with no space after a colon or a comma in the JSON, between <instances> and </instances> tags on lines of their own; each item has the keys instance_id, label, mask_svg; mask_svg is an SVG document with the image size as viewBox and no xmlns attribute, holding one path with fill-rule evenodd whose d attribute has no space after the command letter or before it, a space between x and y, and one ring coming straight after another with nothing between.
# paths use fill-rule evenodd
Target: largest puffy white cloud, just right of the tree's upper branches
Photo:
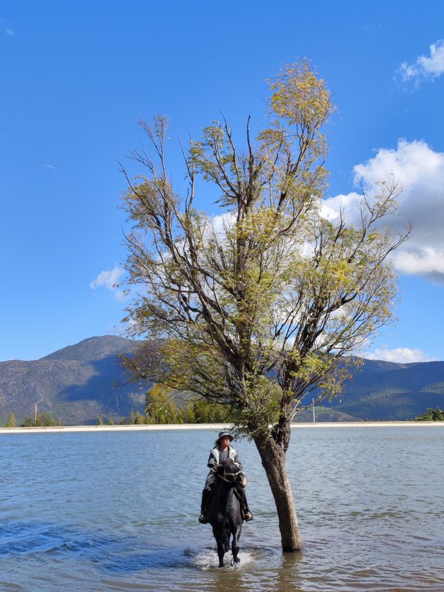
<instances>
[{"instance_id":1,"label":"largest puffy white cloud, just right of the tree's upper branches","mask_svg":"<svg viewBox=\"0 0 444 592\"><path fill-rule=\"evenodd\" d=\"M377 181L394 178L402 184L398 216L388 223L396 226L411 221L413 234L393 254L395 267L402 273L444 282L444 153L422 141L400 140L396 149L379 149L354 171L356 185L363 185L370 198ZM360 202L356 192L334 196L323 202L323 215L334 221L342 209L348 222L357 223Z\"/></svg>"}]
</instances>

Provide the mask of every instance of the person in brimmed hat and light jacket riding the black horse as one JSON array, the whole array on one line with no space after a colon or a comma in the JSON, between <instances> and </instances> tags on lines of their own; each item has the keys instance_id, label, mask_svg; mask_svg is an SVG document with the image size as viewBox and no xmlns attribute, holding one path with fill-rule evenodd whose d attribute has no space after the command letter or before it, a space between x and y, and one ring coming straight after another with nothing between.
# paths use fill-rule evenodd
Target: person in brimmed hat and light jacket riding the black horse
<instances>
[{"instance_id":1,"label":"person in brimmed hat and light jacket riding the black horse","mask_svg":"<svg viewBox=\"0 0 444 592\"><path fill-rule=\"evenodd\" d=\"M200 516L199 522L200 524L206 524L208 522L208 502L210 501L211 493L216 486L217 483L217 475L216 471L221 464L221 462L232 459L237 465L239 465L239 471L242 471L241 463L239 462L239 457L237 456L236 450L232 446L230 446L231 442L233 441L233 437L230 432L219 432L219 436L214 444L214 448L210 452L210 457L207 462L207 466L210 467L210 473L207 475L207 479L205 481L205 487L202 491L202 503L200 505ZM244 521L248 522L253 520L253 514L248 509L247 498L245 495L244 487L235 486L237 490L237 494L239 497L239 502L241 504L241 512L244 518Z\"/></svg>"}]
</instances>

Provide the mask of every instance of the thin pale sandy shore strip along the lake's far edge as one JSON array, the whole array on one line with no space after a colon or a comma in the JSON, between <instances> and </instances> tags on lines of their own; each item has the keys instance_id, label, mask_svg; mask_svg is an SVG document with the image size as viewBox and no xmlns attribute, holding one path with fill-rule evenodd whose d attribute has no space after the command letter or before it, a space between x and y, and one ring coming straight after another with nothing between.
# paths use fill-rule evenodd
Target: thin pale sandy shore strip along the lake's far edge
<instances>
[{"instance_id":1,"label":"thin pale sandy shore strip along the lake's far edge","mask_svg":"<svg viewBox=\"0 0 444 592\"><path fill-rule=\"evenodd\" d=\"M350 421L292 423L292 428L417 428L434 426L444 428L444 421ZM169 423L156 425L63 425L51 428L0 428L0 434L41 434L61 432L128 432L137 430L226 430L230 423Z\"/></svg>"}]
</instances>

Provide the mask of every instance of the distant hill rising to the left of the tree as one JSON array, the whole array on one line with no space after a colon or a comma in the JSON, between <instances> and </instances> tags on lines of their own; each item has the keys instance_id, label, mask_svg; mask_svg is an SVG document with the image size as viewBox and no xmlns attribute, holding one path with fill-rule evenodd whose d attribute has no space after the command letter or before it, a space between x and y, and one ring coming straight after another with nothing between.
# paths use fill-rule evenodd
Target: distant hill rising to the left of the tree
<instances>
[{"instance_id":1,"label":"distant hill rising to the left of the tree","mask_svg":"<svg viewBox=\"0 0 444 592\"><path fill-rule=\"evenodd\" d=\"M119 355L130 355L137 341L114 335L91 337L41 360L0 362L0 420L53 413L64 425L97 423L110 416L144 411L147 385L129 382Z\"/></svg>"}]
</instances>

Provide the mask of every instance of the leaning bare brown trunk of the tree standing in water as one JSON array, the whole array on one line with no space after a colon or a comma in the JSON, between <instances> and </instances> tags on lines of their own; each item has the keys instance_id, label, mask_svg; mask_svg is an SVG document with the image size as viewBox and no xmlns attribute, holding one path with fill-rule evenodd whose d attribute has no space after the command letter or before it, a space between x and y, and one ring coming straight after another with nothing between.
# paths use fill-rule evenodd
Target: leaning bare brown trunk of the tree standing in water
<instances>
[{"instance_id":1,"label":"leaning bare brown trunk of the tree standing in water","mask_svg":"<svg viewBox=\"0 0 444 592\"><path fill-rule=\"evenodd\" d=\"M257 437L255 444L262 459L262 466L266 471L276 509L278 510L279 530L282 541L282 551L295 552L302 550L298 518L293 502L293 494L287 466L285 465L285 451L272 437L267 439Z\"/></svg>"}]
</instances>

